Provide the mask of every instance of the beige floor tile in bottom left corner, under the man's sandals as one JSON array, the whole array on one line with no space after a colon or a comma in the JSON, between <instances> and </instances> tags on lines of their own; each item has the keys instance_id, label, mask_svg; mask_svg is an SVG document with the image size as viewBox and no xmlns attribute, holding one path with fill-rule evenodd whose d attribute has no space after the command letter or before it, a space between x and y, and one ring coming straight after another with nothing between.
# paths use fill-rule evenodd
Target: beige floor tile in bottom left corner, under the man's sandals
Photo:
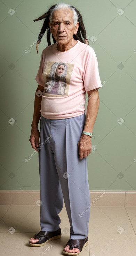
<instances>
[{"instance_id":1,"label":"beige floor tile in bottom left corner, under the man's sandals","mask_svg":"<svg viewBox=\"0 0 136 256\"><path fill-rule=\"evenodd\" d=\"M28 239L25 233L0 233L0 239L3 236L1 244L1 253L5 256L59 256L62 253L66 242L69 240L68 236L62 236L60 239L48 242L45 246L31 247L28 244ZM47 254L48 253L48 254ZM2 254L1 254L2 255ZM89 242L83 249L83 256L89 256Z\"/></svg>"}]
</instances>

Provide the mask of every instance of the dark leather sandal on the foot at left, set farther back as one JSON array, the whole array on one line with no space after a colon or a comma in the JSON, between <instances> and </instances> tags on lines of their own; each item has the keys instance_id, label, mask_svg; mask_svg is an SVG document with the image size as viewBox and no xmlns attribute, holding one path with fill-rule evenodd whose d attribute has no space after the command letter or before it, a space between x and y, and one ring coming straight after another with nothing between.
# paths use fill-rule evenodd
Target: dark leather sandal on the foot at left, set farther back
<instances>
[{"instance_id":1,"label":"dark leather sandal on the foot at left, set farther back","mask_svg":"<svg viewBox=\"0 0 136 256\"><path fill-rule=\"evenodd\" d=\"M61 238L61 228L59 228L57 231L40 231L39 233L34 235L34 239L38 238L39 241L37 243L30 243L31 246L43 246L47 242Z\"/></svg>"}]
</instances>

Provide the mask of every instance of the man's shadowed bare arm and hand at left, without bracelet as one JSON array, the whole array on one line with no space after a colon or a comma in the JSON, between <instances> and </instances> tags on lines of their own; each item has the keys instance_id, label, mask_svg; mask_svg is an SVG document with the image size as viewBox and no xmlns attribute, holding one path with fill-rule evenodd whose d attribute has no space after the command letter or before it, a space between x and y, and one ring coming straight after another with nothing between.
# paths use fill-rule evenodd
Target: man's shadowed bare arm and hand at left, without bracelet
<instances>
[{"instance_id":1,"label":"man's shadowed bare arm and hand at left, without bracelet","mask_svg":"<svg viewBox=\"0 0 136 256\"><path fill-rule=\"evenodd\" d=\"M43 86L38 85L37 90L35 91L35 93L37 91L43 92ZM41 110L41 100L42 100L42 97L38 97L35 94L33 121L32 121L32 124L31 124L32 129L31 129L31 135L30 135L29 141L31 142L32 148L35 149L36 151L38 151L37 148L40 145L40 143L39 143L40 132L38 130L38 123L39 123L39 120L40 120L40 117L41 117L41 112L40 112L40 110Z\"/></svg>"}]
</instances>

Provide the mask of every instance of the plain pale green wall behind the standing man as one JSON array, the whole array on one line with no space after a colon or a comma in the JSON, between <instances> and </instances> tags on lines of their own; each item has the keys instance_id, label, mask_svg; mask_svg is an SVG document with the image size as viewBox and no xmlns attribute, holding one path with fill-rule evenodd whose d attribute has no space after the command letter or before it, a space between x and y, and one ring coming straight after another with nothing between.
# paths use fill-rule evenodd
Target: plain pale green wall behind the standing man
<instances>
[{"instance_id":1,"label":"plain pale green wall behind the standing man","mask_svg":"<svg viewBox=\"0 0 136 256\"><path fill-rule=\"evenodd\" d=\"M46 37L39 44L38 54L36 46L28 53L25 50L37 40L43 24L43 20L33 20L55 3L0 1L1 190L40 189L38 153L27 163L25 159L34 152L29 138L38 86L35 76L41 52L48 46ZM94 152L88 156L90 190L135 190L136 1L69 3L82 14L103 85L99 89L101 102L93 130ZM14 15L10 15L11 8ZM11 118L15 120L12 125Z\"/></svg>"}]
</instances>

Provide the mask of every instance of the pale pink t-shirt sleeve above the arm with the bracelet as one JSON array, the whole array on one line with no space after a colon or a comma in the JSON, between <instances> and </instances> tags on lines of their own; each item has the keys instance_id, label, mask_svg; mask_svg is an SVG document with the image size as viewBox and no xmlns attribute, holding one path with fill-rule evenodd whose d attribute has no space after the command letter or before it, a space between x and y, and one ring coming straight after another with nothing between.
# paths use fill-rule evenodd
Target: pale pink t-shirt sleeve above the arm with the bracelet
<instances>
[{"instance_id":1,"label":"pale pink t-shirt sleeve above the arm with the bracelet","mask_svg":"<svg viewBox=\"0 0 136 256\"><path fill-rule=\"evenodd\" d=\"M102 87L96 55L88 60L83 74L83 81L86 92Z\"/></svg>"}]
</instances>

